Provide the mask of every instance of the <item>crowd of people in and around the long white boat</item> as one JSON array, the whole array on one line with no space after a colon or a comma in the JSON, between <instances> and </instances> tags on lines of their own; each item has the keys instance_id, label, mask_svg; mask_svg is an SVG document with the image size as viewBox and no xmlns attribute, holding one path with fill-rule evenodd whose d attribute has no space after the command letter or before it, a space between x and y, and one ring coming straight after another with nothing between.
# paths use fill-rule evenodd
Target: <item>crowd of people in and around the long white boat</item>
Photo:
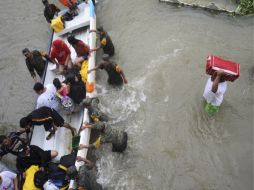
<instances>
[{"instance_id":1,"label":"crowd of people in and around the long white boat","mask_svg":"<svg viewBox=\"0 0 254 190\"><path fill-rule=\"evenodd\" d=\"M59 0L69 9L68 14L75 17L79 13L77 0ZM87 0L85 0L88 3ZM48 0L42 0L44 16L48 23L51 23L60 9L50 4ZM94 1L91 1L94 4ZM18 175L13 171L0 173L0 190L14 189L22 186L24 190L33 189L67 189L70 180L77 182L77 189L102 189L96 182L96 169L94 163L86 158L77 156L79 149L99 148L104 143L112 144L112 151L122 153L127 147L128 135L122 129L112 128L109 124L109 117L99 108L99 99L89 98L86 93L86 81L82 79L80 71L82 64L88 61L94 51L102 49L102 62L87 74L97 69L104 69L108 74L108 84L112 87L121 87L127 83L124 72L118 64L111 61L115 54L115 48L110 36L99 27L97 30L90 30L99 35L99 45L91 49L85 42L77 39L73 34L68 35L67 42L63 39L55 39L52 42L50 54L44 51L29 50L24 48L22 54L25 56L27 69L35 84L34 92L38 95L35 109L20 119L20 130L6 135L0 135L0 158L8 153L16 156L16 168L22 174L23 183L18 184ZM76 58L71 59L72 47L75 50ZM56 64L56 78L49 84L43 84L43 77L46 75L47 62ZM58 75L63 76L60 81ZM61 77L62 78L62 77ZM84 123L79 132L76 128L67 123L65 115L71 115L82 109L87 109L90 123ZM35 127L44 127L49 132L46 141L50 140L58 127L64 127L71 131L73 137L79 135L80 131L87 128L97 130L99 137L94 143L80 144L78 149L73 149L70 154L61 157L59 162L52 162L58 156L56 150L43 150L42 147L31 145L31 132ZM71 137L70 137L71 138ZM75 161L84 164L77 171Z\"/></svg>"}]
</instances>

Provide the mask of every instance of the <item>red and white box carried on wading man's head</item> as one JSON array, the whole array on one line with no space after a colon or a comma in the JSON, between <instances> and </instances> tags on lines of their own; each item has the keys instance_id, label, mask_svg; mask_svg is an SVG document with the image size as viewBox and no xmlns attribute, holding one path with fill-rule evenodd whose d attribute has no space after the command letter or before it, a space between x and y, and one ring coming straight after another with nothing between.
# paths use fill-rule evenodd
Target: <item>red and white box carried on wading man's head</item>
<instances>
[{"instance_id":1,"label":"red and white box carried on wading man's head","mask_svg":"<svg viewBox=\"0 0 254 190\"><path fill-rule=\"evenodd\" d=\"M215 71L223 70L226 75L225 79L227 81L233 82L240 76L240 64L224 60L215 55L208 55L206 63L206 73L208 75L213 75Z\"/></svg>"}]
</instances>

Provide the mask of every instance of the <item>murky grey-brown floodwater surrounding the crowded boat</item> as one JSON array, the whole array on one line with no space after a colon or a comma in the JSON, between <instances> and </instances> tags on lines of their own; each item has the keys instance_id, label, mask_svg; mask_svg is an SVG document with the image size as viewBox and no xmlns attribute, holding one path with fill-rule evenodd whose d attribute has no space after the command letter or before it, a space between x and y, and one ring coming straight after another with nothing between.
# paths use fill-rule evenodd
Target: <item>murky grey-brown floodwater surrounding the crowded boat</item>
<instances>
[{"instance_id":1,"label":"murky grey-brown floodwater surrounding the crowded boat","mask_svg":"<svg viewBox=\"0 0 254 190\"><path fill-rule=\"evenodd\" d=\"M32 110L36 97L21 50L46 49L49 29L40 1L1 1L0 9L5 133ZM105 72L97 73L102 109L115 118L112 127L129 135L124 154L110 146L95 152L105 189L252 190L253 18L155 0L102 0L97 17L129 81L114 90ZM241 64L240 78L228 84L214 117L204 113L202 101L210 53Z\"/></svg>"}]
</instances>

